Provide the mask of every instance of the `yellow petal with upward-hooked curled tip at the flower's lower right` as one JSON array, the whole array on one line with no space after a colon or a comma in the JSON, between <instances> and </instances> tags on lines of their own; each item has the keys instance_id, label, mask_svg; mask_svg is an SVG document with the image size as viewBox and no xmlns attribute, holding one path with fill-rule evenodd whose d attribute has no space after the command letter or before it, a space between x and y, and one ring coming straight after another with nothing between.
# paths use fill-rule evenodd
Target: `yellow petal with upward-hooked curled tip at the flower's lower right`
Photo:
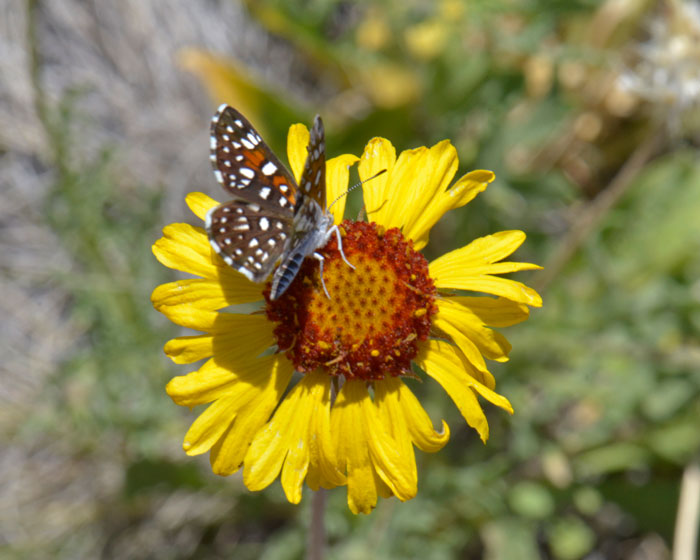
<instances>
[{"instance_id":1,"label":"yellow petal with upward-hooked curled tip at the flower's lower right","mask_svg":"<svg viewBox=\"0 0 700 560\"><path fill-rule=\"evenodd\" d=\"M428 413L400 379L389 377L375 382L374 391L384 425L391 427L389 431L395 438L395 427L405 426L413 444L427 453L439 451L450 439L450 429L445 421L442 421L442 432L435 431Z\"/></svg>"}]
</instances>

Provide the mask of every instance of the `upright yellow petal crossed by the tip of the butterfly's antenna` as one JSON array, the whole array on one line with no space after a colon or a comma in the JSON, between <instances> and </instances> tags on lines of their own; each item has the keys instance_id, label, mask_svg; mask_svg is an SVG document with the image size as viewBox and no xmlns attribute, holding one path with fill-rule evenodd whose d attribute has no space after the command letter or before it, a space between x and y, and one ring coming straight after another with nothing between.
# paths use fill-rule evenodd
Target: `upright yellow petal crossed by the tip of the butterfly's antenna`
<instances>
[{"instance_id":1,"label":"upright yellow petal crossed by the tip of the butterfly's antenna","mask_svg":"<svg viewBox=\"0 0 700 560\"><path fill-rule=\"evenodd\" d=\"M392 184L389 177L395 162L396 150L391 142L384 138L370 140L360 158L358 172L362 181L386 169L386 173L362 186L365 209L370 222L384 224L387 205L393 197L393 193L387 192L387 190L388 186Z\"/></svg>"}]
</instances>

